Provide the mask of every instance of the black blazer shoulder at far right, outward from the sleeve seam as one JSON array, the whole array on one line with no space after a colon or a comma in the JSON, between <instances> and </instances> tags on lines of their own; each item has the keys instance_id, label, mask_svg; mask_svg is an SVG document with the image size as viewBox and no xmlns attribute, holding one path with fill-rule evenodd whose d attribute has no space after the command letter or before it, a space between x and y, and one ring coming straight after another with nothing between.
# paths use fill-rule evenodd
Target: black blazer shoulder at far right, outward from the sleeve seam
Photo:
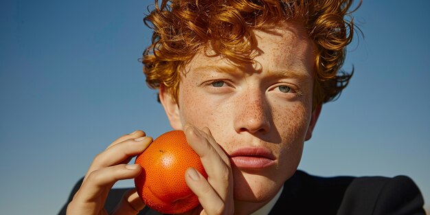
<instances>
[{"instance_id":1,"label":"black blazer shoulder at far right, outward from the sleeve seam","mask_svg":"<svg viewBox=\"0 0 430 215\"><path fill-rule=\"evenodd\" d=\"M418 186L409 177L359 177L343 196L339 214L425 214Z\"/></svg>"}]
</instances>

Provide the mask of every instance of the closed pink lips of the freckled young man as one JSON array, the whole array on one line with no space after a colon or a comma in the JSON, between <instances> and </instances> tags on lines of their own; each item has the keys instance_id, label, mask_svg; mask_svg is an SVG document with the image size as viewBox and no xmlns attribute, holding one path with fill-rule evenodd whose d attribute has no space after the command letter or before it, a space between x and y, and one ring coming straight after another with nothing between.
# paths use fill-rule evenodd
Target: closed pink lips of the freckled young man
<instances>
[{"instance_id":1,"label":"closed pink lips of the freckled young man","mask_svg":"<svg viewBox=\"0 0 430 215\"><path fill-rule=\"evenodd\" d=\"M266 168L275 164L275 156L267 148L239 148L229 157L233 166L243 169Z\"/></svg>"}]
</instances>

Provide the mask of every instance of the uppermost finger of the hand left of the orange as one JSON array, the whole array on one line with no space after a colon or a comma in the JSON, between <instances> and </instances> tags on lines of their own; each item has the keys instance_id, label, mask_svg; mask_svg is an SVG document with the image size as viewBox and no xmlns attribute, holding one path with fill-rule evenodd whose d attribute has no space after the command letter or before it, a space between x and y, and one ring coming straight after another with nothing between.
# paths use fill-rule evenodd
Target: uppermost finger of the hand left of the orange
<instances>
[{"instance_id":1,"label":"uppermost finger of the hand left of the orange","mask_svg":"<svg viewBox=\"0 0 430 215\"><path fill-rule=\"evenodd\" d=\"M94 158L88 172L91 173L94 170L120 163L128 163L128 159L142 153L151 142L152 137L139 137L137 139L127 139L111 146Z\"/></svg>"}]
</instances>

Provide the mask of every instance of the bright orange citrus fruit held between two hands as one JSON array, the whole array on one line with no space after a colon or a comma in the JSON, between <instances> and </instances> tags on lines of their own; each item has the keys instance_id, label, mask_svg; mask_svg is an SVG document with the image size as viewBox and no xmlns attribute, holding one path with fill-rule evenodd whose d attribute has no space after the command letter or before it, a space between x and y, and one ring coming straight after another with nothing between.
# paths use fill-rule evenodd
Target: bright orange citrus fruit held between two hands
<instances>
[{"instance_id":1,"label":"bright orange citrus fruit held between two hands","mask_svg":"<svg viewBox=\"0 0 430 215\"><path fill-rule=\"evenodd\" d=\"M136 157L135 163L143 168L135 178L136 190L148 207L163 214L181 214L199 205L199 199L185 183L185 170L193 167L205 178L207 174L183 131L159 136Z\"/></svg>"}]
</instances>

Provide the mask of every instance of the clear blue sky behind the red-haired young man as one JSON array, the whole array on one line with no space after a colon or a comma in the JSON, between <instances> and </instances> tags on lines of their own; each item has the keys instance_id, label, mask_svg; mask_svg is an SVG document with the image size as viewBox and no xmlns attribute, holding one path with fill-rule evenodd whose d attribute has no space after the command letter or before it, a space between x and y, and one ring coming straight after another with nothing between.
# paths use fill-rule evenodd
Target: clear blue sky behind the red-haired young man
<instances>
[{"instance_id":1,"label":"clear blue sky behind the red-haired young man","mask_svg":"<svg viewBox=\"0 0 430 215\"><path fill-rule=\"evenodd\" d=\"M170 130L138 58L152 1L0 3L0 214L56 214L93 157L142 129ZM430 1L364 1L364 38L339 100L323 107L299 168L406 174L430 201ZM117 186L132 185L131 181Z\"/></svg>"}]
</instances>

